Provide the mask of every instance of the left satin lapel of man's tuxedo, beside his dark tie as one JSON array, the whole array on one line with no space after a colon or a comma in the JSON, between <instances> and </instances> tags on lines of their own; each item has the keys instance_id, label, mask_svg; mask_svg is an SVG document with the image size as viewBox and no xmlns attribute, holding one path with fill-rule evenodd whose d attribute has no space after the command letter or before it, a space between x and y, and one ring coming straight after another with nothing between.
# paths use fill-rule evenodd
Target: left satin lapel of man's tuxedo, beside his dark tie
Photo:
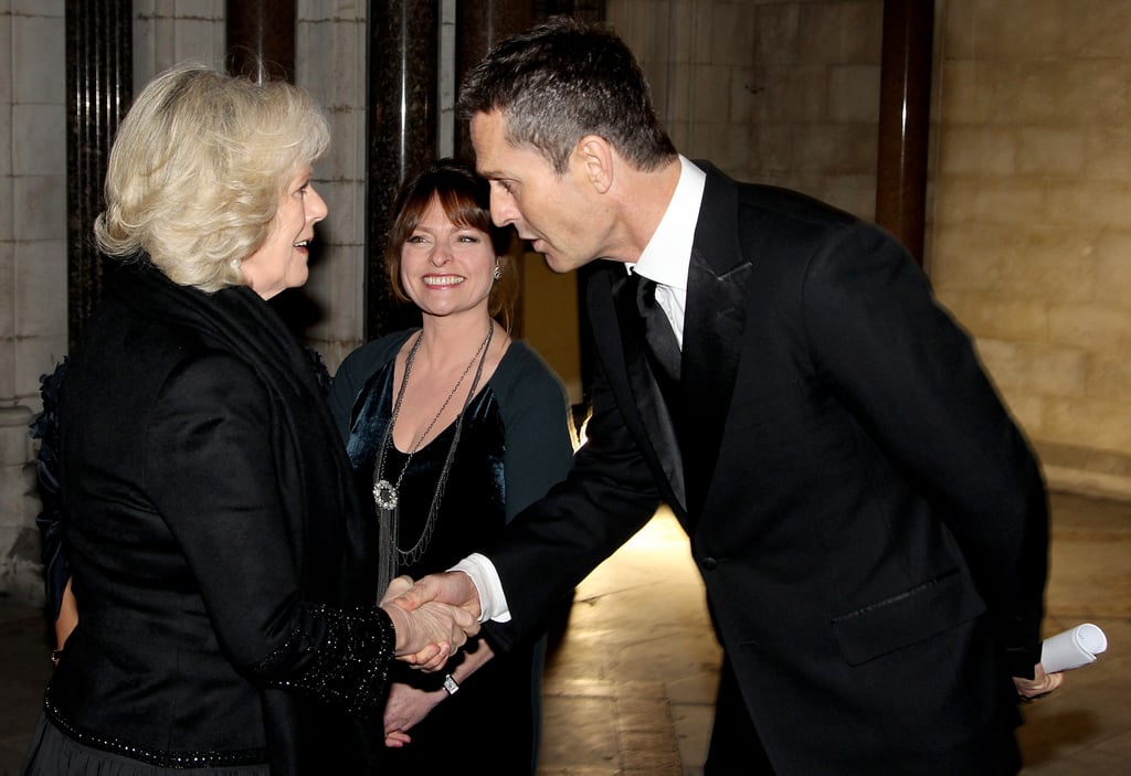
<instances>
[{"instance_id":1,"label":"left satin lapel of man's tuxedo, beside his dark tie","mask_svg":"<svg viewBox=\"0 0 1131 776\"><path fill-rule=\"evenodd\" d=\"M601 272L590 280L590 295L597 297L608 295L605 303L590 298L589 309L594 317L594 329L598 332L615 329L616 338L597 338L597 348L604 351L608 380L614 389L625 392L627 402L621 402L622 411L630 413L634 407L639 412L640 434L644 442L651 447L675 496L681 511L687 508L687 489L684 487L683 459L680 443L675 434L672 415L664 401L659 384L648 364L644 341L644 328L637 309L636 295L628 282L628 272L621 267L614 272ZM598 304L594 304L598 302ZM601 311L614 311L614 320L602 321ZM623 364L623 372L618 365ZM619 384L619 385L618 385ZM630 426L632 425L629 421ZM638 435L638 436L639 436Z\"/></svg>"}]
</instances>

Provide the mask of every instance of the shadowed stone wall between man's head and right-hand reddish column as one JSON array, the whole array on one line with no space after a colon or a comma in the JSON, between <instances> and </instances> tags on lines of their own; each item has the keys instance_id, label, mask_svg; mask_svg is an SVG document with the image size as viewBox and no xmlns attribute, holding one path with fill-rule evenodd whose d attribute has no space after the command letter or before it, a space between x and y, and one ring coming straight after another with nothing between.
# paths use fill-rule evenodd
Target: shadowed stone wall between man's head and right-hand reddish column
<instances>
[{"instance_id":1,"label":"shadowed stone wall between man's head and right-hand reddish column","mask_svg":"<svg viewBox=\"0 0 1131 776\"><path fill-rule=\"evenodd\" d=\"M875 212L883 0L608 0L676 147Z\"/></svg>"}]
</instances>

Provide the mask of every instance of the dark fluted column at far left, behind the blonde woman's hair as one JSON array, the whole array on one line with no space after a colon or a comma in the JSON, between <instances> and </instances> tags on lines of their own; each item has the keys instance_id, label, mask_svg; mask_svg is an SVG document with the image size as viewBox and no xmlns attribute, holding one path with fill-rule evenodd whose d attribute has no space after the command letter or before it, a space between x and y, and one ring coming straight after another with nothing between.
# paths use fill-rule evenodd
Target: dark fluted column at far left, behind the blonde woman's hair
<instances>
[{"instance_id":1,"label":"dark fluted column at far left, behind the blonde woman's hair","mask_svg":"<svg viewBox=\"0 0 1131 776\"><path fill-rule=\"evenodd\" d=\"M67 0L68 339L74 347L103 291L92 238L105 207L103 181L114 132L133 98L132 3Z\"/></svg>"}]
</instances>

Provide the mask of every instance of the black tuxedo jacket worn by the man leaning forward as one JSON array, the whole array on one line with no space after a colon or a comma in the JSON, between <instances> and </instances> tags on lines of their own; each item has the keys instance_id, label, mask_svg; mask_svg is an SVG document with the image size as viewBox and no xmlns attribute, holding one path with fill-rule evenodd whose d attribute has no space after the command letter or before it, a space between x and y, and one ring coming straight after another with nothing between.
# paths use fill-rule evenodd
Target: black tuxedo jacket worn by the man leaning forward
<instances>
[{"instance_id":1,"label":"black tuxedo jacket worn by the man leaning forward","mask_svg":"<svg viewBox=\"0 0 1131 776\"><path fill-rule=\"evenodd\" d=\"M512 630L663 500L778 774L979 773L1039 657L1034 455L893 238L705 168L676 396L624 268L588 284L588 443L491 552Z\"/></svg>"}]
</instances>

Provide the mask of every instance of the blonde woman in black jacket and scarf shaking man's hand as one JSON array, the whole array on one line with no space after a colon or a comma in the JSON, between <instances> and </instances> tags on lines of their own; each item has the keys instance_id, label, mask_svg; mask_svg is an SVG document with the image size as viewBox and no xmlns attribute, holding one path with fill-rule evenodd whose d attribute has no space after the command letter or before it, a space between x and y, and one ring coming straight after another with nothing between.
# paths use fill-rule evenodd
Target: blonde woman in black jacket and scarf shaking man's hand
<instances>
[{"instance_id":1,"label":"blonde woman in black jacket and scarf shaking man's hand","mask_svg":"<svg viewBox=\"0 0 1131 776\"><path fill-rule=\"evenodd\" d=\"M266 302L307 280L328 142L302 90L198 64L121 125L59 398L78 625L25 774L369 773L395 654L477 630L377 605L320 363Z\"/></svg>"}]
</instances>

